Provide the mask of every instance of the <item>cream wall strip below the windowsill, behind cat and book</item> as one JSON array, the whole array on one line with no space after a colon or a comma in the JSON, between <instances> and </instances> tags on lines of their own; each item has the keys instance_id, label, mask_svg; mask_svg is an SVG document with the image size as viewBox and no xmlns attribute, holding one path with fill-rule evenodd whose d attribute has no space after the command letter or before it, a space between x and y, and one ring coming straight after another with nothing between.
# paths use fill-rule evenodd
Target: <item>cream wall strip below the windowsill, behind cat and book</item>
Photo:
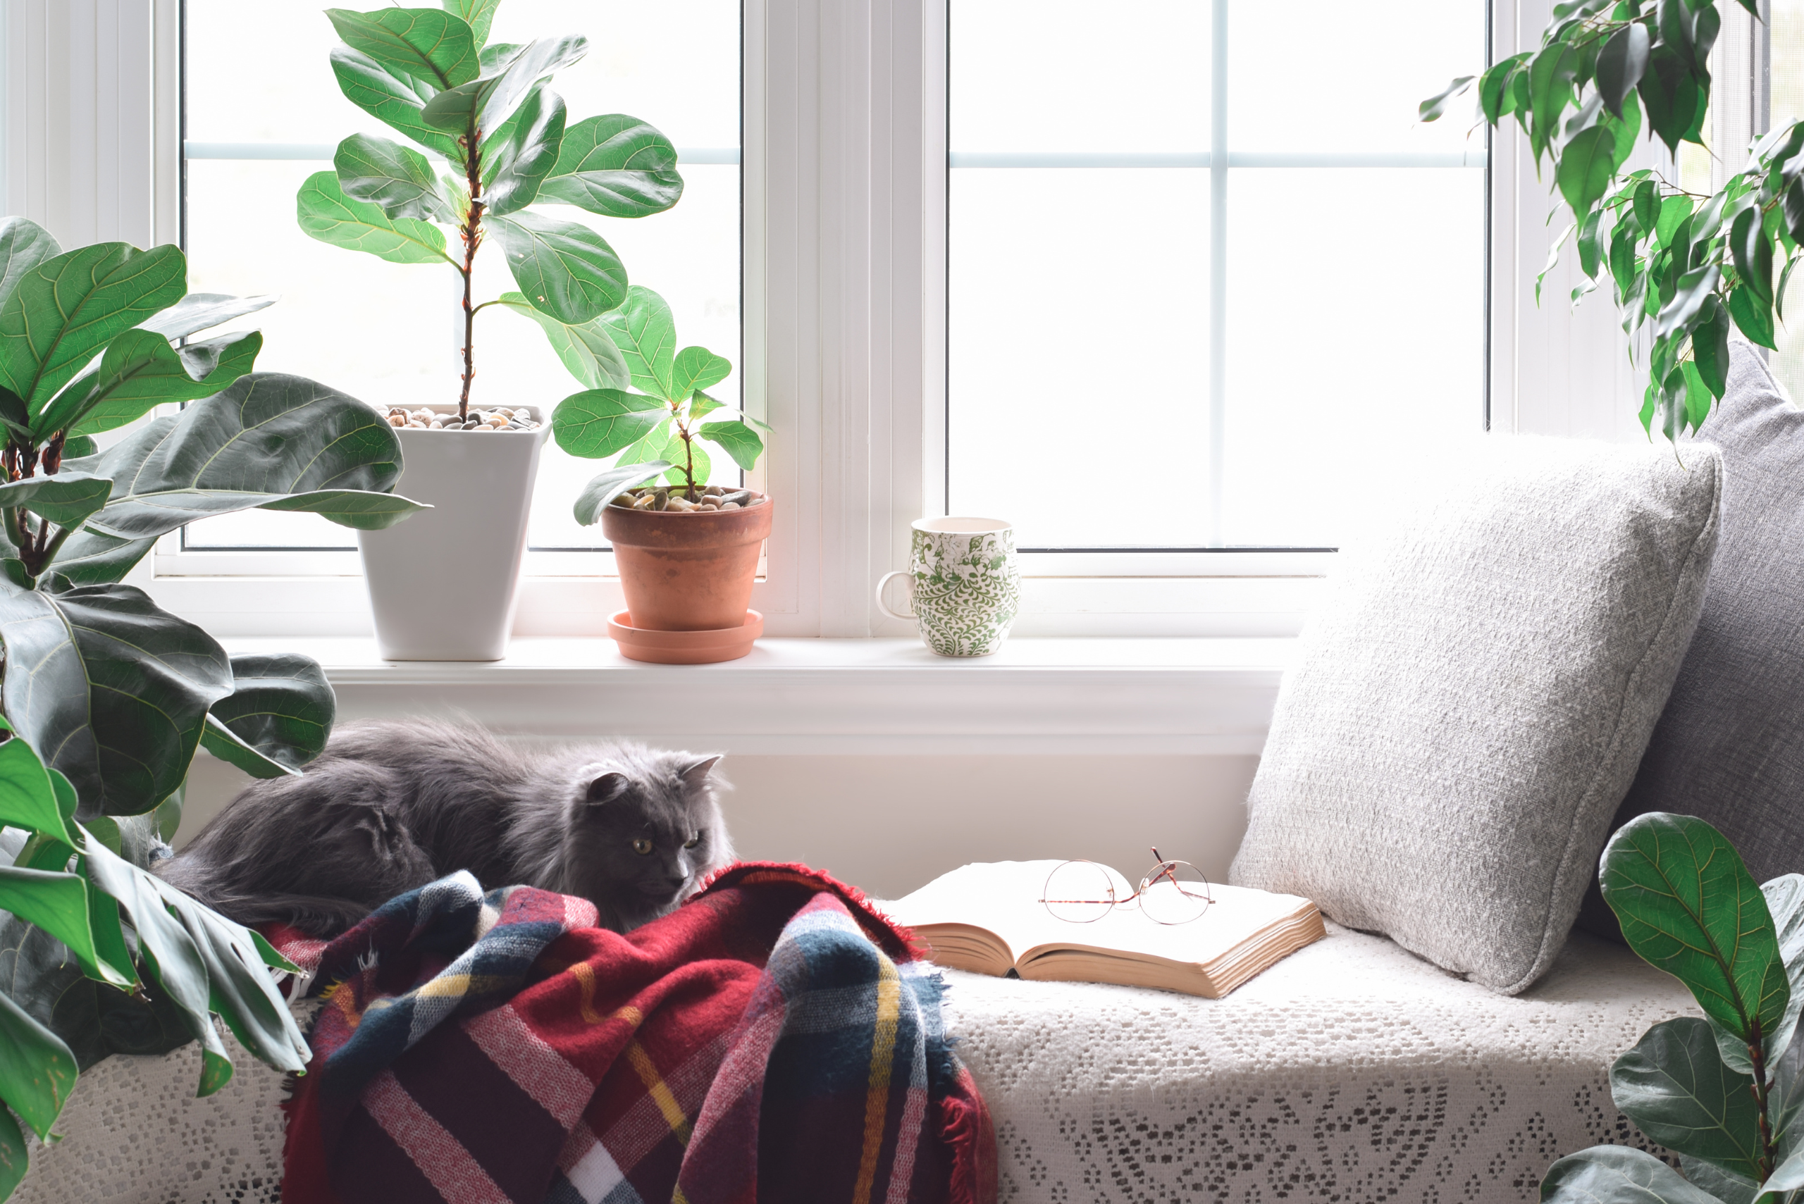
<instances>
[{"instance_id":1,"label":"cream wall strip below the windowsill, behind cat and book","mask_svg":"<svg viewBox=\"0 0 1804 1204\"><path fill-rule=\"evenodd\" d=\"M1137 874L1149 845L1227 878L1257 757L729 757L740 854L897 898L965 862L1086 856ZM249 779L200 753L186 844Z\"/></svg>"}]
</instances>

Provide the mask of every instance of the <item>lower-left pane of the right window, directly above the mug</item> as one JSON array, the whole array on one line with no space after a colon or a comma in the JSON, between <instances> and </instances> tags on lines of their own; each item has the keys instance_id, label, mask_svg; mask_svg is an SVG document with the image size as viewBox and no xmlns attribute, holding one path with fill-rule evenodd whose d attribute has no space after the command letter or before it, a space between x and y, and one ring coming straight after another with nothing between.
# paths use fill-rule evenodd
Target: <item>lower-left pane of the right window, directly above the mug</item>
<instances>
[{"instance_id":1,"label":"lower-left pane of the right window, directly above the mug","mask_svg":"<svg viewBox=\"0 0 1804 1204\"><path fill-rule=\"evenodd\" d=\"M953 173L953 514L1025 548L1207 539L1207 171Z\"/></svg>"}]
</instances>

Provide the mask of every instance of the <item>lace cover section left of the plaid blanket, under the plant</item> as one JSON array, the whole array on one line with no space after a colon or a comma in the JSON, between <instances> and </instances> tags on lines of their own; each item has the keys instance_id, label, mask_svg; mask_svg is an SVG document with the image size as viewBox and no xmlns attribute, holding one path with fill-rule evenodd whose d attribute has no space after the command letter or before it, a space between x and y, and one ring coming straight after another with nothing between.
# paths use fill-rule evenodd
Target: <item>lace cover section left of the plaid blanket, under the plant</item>
<instances>
[{"instance_id":1,"label":"lace cover section left of the plaid blanket, under the plant","mask_svg":"<svg viewBox=\"0 0 1804 1204\"><path fill-rule=\"evenodd\" d=\"M316 1008L296 1006L303 1031ZM63 1139L27 1136L31 1170L9 1204L276 1204L285 1076L224 1038L233 1076L206 1099L195 1042L83 1071L56 1121Z\"/></svg>"}]
</instances>

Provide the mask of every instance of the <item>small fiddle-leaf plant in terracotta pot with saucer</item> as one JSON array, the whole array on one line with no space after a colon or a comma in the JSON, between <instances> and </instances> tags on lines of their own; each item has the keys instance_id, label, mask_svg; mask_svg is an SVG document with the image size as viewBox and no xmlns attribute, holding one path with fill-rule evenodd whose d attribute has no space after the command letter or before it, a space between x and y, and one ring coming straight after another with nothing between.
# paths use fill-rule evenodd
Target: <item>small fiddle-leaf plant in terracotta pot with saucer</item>
<instances>
[{"instance_id":1,"label":"small fiddle-leaf plant in terracotta pot with saucer","mask_svg":"<svg viewBox=\"0 0 1804 1204\"><path fill-rule=\"evenodd\" d=\"M705 393L732 364L707 348L675 350L676 324L658 294L633 285L601 324L633 388L566 397L552 411L552 434L572 456L619 456L575 501L575 521L601 521L621 570L626 613L608 634L633 660L745 656L763 631L749 604L770 535L770 497L709 485L713 460L702 443L750 470L765 451L752 427L769 427Z\"/></svg>"}]
</instances>

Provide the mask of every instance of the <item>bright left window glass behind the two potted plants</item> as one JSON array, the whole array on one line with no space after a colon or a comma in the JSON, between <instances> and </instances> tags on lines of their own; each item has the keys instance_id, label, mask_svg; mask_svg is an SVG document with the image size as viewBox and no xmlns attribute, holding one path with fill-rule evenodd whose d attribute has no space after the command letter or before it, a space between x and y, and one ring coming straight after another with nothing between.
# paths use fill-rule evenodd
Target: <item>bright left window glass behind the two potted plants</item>
<instances>
[{"instance_id":1,"label":"bright left window glass behind the two potted plants","mask_svg":"<svg viewBox=\"0 0 1804 1204\"><path fill-rule=\"evenodd\" d=\"M184 4L189 288L281 294L276 306L242 323L265 333L260 369L314 377L373 406L455 402L462 369L456 274L343 251L296 225L296 189L330 169L339 139L370 132L402 141L339 92L327 61L337 36L323 9L321 0ZM590 38L588 56L552 83L570 121L617 112L649 121L678 146L684 196L667 213L639 220L597 218L572 205L556 207L556 216L601 231L631 281L671 303L684 342L727 355L738 368L740 2L503 4L489 41L563 32ZM478 299L511 288L500 252L487 249L478 256ZM474 346L473 404L548 413L583 388L539 328L503 306L478 314ZM714 391L729 406L738 402L740 375ZM572 499L599 467L547 443L529 535L534 550L604 546L599 526L579 526L570 515ZM184 535L184 552L352 546L345 528L316 515L260 510L211 519ZM574 571L597 570L592 557ZM193 571L211 570L200 562Z\"/></svg>"}]
</instances>

